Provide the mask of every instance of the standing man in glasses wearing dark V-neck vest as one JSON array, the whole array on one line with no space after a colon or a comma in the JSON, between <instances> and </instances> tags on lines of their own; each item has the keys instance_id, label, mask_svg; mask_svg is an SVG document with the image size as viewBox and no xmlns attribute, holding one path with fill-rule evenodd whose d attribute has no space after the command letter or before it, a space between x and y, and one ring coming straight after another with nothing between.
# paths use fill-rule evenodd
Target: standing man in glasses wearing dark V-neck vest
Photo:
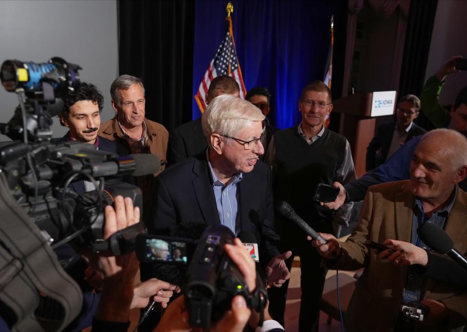
<instances>
[{"instance_id":1,"label":"standing man in glasses wearing dark V-neck vest","mask_svg":"<svg viewBox=\"0 0 467 332\"><path fill-rule=\"evenodd\" d=\"M269 143L266 162L273 170L274 198L286 201L297 214L317 232L333 231L333 222L346 225L352 206L342 206L335 214L313 200L316 185L332 185L335 179L347 183L355 179L354 161L347 139L328 130L324 118L333 110L331 91L321 81L314 81L302 90L298 126L276 132ZM291 267L296 254L300 256L301 304L299 331L318 331L319 300L327 270L320 266L321 257L310 250L306 234L291 227L278 215L276 229L280 234L280 250L291 250L286 261ZM284 287L285 286L285 287ZM271 289L269 312L283 324L288 282L280 289Z\"/></svg>"}]
</instances>

